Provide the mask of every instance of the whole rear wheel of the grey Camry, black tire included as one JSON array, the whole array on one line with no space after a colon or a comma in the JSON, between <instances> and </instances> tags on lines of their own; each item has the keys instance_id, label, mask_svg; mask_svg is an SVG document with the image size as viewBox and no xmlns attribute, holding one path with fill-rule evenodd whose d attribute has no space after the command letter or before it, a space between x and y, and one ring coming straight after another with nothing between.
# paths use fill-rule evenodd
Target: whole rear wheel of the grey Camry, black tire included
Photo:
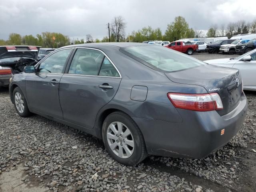
<instances>
[{"instance_id":1,"label":"whole rear wheel of the grey Camry, black tire included","mask_svg":"<svg viewBox=\"0 0 256 192\"><path fill-rule=\"evenodd\" d=\"M123 112L113 112L106 117L102 125L102 139L108 154L121 164L134 166L147 156L142 132Z\"/></svg>"}]
</instances>

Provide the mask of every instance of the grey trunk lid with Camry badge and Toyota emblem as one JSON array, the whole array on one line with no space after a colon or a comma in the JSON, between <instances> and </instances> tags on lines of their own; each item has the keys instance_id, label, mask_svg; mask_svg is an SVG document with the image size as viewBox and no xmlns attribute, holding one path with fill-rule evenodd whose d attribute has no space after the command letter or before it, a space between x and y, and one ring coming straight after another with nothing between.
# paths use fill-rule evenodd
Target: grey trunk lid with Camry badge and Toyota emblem
<instances>
[{"instance_id":1,"label":"grey trunk lid with Camry badge and Toyota emblem","mask_svg":"<svg viewBox=\"0 0 256 192\"><path fill-rule=\"evenodd\" d=\"M195 84L203 86L208 93L218 93L223 104L223 109L217 110L221 116L231 112L240 102L242 78L238 69L203 65L165 74L173 82Z\"/></svg>"}]
</instances>

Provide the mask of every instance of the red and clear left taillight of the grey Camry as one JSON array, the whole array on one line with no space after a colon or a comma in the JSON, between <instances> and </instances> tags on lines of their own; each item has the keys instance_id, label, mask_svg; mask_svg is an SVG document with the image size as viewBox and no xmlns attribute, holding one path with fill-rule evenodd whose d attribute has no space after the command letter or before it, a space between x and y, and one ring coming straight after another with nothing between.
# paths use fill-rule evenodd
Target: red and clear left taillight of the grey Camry
<instances>
[{"instance_id":1,"label":"red and clear left taillight of the grey Camry","mask_svg":"<svg viewBox=\"0 0 256 192\"><path fill-rule=\"evenodd\" d=\"M212 111L223 109L222 101L218 93L168 93L167 96L176 108L193 111Z\"/></svg>"}]
</instances>

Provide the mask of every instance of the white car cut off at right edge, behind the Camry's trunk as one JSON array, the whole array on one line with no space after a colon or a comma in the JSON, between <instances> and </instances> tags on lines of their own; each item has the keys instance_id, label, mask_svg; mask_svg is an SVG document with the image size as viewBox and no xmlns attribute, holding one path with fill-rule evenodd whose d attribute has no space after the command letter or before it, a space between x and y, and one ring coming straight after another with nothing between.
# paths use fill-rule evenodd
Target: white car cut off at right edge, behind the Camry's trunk
<instances>
[{"instance_id":1,"label":"white car cut off at right edge, behind the Camry's trunk","mask_svg":"<svg viewBox=\"0 0 256 192\"><path fill-rule=\"evenodd\" d=\"M256 50L247 52L236 58L212 59L204 61L208 64L237 68L241 72L243 89L256 91Z\"/></svg>"}]
</instances>

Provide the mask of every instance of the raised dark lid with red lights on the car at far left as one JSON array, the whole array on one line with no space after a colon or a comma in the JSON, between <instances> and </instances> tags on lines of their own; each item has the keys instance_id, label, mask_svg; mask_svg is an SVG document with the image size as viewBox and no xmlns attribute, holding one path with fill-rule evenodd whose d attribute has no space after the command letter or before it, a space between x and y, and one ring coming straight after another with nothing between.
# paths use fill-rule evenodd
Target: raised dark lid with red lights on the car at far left
<instances>
[{"instance_id":1,"label":"raised dark lid with red lights on the car at far left","mask_svg":"<svg viewBox=\"0 0 256 192\"><path fill-rule=\"evenodd\" d=\"M15 51L7 50L5 46L0 47L0 59L12 58L12 57L26 57L31 59L36 59L38 55L38 50L40 47L37 47L37 50L30 50L28 46L19 46L16 47Z\"/></svg>"}]
</instances>

